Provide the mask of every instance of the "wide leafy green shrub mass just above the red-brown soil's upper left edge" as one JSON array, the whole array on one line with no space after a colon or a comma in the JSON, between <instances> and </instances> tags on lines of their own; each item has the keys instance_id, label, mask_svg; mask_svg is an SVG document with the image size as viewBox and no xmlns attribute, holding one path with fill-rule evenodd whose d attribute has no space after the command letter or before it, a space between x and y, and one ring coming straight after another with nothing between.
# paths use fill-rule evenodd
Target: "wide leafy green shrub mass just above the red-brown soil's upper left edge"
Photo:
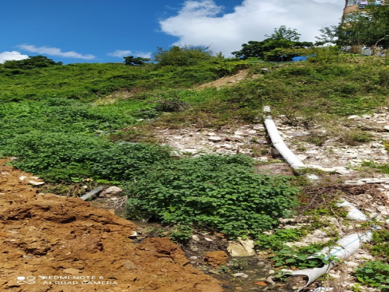
<instances>
[{"instance_id":1,"label":"wide leafy green shrub mass just above the red-brown soil's upper left edge","mask_svg":"<svg viewBox=\"0 0 389 292\"><path fill-rule=\"evenodd\" d=\"M18 157L13 165L52 182L85 177L133 179L156 161L170 158L169 149L162 146L118 145L94 137L38 131L11 139L4 152Z\"/></svg>"}]
</instances>

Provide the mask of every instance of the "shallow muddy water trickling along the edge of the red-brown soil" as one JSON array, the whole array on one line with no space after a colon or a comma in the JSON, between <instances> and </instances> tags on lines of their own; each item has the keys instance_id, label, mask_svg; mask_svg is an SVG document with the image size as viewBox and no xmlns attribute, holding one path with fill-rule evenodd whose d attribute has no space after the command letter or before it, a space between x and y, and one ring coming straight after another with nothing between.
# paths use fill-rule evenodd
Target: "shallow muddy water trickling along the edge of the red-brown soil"
<instances>
[{"instance_id":1,"label":"shallow muddy water trickling along the edge of the red-brown soil","mask_svg":"<svg viewBox=\"0 0 389 292\"><path fill-rule=\"evenodd\" d=\"M111 213L125 219L125 207L117 207L110 204L109 201L93 200L90 201L94 208L107 209ZM141 243L147 237L156 236L150 230L158 230L162 228L157 222L146 222L138 220L130 220L137 225L137 232L134 242ZM273 288L269 286L267 278L273 273L269 262L265 261L260 256L252 257L231 257L227 262L219 267L211 267L204 260L209 252L225 251L227 253L228 240L218 234L198 233L195 236L196 240L191 239L188 242L179 244L184 251L185 256L189 259L193 267L209 274L213 278L220 281L225 292L251 292L251 291L267 291L267 292L291 292L293 290L286 287ZM237 265L241 268L236 269ZM234 268L235 266L235 268ZM277 285L278 286L278 285Z\"/></svg>"}]
</instances>

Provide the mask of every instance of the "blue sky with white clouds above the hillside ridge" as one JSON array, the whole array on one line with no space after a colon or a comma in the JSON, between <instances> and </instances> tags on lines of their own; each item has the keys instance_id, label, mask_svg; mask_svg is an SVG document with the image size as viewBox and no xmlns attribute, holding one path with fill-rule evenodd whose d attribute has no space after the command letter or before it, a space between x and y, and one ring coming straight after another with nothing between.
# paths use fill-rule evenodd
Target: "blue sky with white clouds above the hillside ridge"
<instances>
[{"instance_id":1,"label":"blue sky with white clouds above the hillside ridge","mask_svg":"<svg viewBox=\"0 0 389 292\"><path fill-rule=\"evenodd\" d=\"M313 40L337 24L343 0L3 0L0 62L121 62L172 44L211 45L230 55L281 25ZM124 51L124 52L123 52Z\"/></svg>"}]
</instances>

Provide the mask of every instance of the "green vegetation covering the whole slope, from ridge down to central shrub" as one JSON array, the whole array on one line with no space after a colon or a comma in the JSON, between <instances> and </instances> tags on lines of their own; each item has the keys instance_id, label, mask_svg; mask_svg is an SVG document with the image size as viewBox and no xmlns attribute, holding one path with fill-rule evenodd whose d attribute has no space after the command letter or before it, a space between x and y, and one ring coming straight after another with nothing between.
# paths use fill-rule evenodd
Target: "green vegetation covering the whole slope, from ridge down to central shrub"
<instances>
[{"instance_id":1,"label":"green vegetation covering the whole slope, from ridge down to central shrub","mask_svg":"<svg viewBox=\"0 0 389 292\"><path fill-rule=\"evenodd\" d=\"M289 37L293 42L295 33ZM257 162L244 155L173 158L154 134L156 127L261 123L265 104L276 114L301 117L296 121L308 127L314 119L340 119L387 103L387 58L342 55L334 47L310 50L316 56L308 62L265 64L267 73L264 63L190 46L159 48L157 64L138 64L144 60L129 56L136 66L60 65L50 59L43 66L42 58L33 57L28 60L35 65L28 68L0 65L0 156L16 156L13 165L47 183L120 182L129 198L128 216L169 224L163 234L175 241L188 238L192 227L208 228L230 238L255 238L260 248L278 253L274 261L280 266L313 265L301 257L307 251L280 252L287 250L283 242L305 231L263 234L298 204L300 191L290 178L259 173ZM195 90L240 70L247 80ZM346 134L344 140L352 143L370 139L362 132Z\"/></svg>"}]
</instances>

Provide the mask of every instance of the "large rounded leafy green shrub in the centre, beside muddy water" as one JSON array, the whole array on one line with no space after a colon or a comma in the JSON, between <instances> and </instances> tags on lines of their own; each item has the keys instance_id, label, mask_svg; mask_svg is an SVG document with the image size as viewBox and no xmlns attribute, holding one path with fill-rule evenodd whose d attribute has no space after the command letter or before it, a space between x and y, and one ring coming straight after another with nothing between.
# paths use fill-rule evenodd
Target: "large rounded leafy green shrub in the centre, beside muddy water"
<instances>
[{"instance_id":1,"label":"large rounded leafy green shrub in the centre, beside muddy water","mask_svg":"<svg viewBox=\"0 0 389 292\"><path fill-rule=\"evenodd\" d=\"M258 237L290 215L299 190L286 177L255 173L254 163L243 155L207 155L155 164L125 185L129 217Z\"/></svg>"}]
</instances>

